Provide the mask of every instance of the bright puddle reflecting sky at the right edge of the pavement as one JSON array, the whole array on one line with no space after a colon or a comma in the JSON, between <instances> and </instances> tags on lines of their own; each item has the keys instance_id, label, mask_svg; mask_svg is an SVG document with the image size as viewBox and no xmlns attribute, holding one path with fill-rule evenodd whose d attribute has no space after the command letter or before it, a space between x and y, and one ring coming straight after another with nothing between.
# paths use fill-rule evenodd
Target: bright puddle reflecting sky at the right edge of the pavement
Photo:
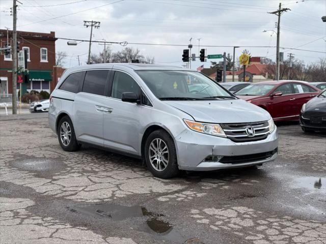
<instances>
[{"instance_id":1,"label":"bright puddle reflecting sky at the right edge of the pavement","mask_svg":"<svg viewBox=\"0 0 326 244\"><path fill-rule=\"evenodd\" d=\"M326 178L325 177L298 177L292 182L291 188L306 188L312 192L325 192Z\"/></svg>"}]
</instances>

